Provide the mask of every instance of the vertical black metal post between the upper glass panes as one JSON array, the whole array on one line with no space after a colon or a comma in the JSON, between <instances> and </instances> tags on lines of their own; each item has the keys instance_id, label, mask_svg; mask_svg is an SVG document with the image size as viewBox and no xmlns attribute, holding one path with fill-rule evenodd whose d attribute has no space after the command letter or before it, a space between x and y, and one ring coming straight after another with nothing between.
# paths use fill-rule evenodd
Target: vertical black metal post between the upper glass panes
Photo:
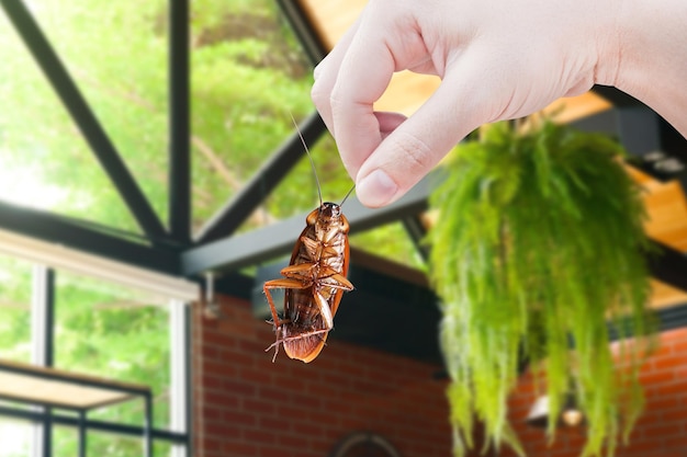
<instances>
[{"instance_id":1,"label":"vertical black metal post between the upper glass panes","mask_svg":"<svg viewBox=\"0 0 687 457\"><path fill-rule=\"evenodd\" d=\"M189 0L169 1L169 231L191 242Z\"/></svg>"}]
</instances>

